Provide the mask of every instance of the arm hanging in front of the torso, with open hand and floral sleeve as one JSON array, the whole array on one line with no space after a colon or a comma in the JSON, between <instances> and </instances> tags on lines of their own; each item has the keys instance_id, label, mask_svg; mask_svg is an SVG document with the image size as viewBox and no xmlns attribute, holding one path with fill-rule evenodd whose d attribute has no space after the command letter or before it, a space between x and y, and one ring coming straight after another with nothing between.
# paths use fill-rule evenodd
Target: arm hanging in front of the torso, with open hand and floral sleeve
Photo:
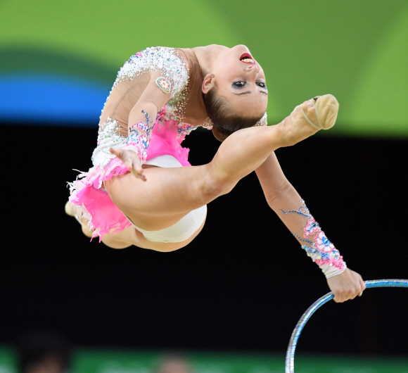
<instances>
[{"instance_id":1,"label":"arm hanging in front of the torso, with open hand and floral sleeve","mask_svg":"<svg viewBox=\"0 0 408 373\"><path fill-rule=\"evenodd\" d=\"M126 143L117 148L110 148L110 152L120 158L128 170L144 181L146 177L143 175L141 165L146 162L146 151L153 125L158 111L170 99L170 93L165 92L165 86L156 82L161 74L160 71L151 73L150 82L130 111Z\"/></svg>"}]
</instances>

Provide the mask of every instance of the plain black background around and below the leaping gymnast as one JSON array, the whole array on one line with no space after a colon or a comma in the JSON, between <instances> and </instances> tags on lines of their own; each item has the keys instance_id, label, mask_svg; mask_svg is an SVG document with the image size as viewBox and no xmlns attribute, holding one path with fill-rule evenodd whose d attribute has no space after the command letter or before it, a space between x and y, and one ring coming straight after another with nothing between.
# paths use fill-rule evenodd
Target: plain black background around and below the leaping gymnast
<instances>
[{"instance_id":1,"label":"plain black background around and below the leaping gymnast","mask_svg":"<svg viewBox=\"0 0 408 373\"><path fill-rule=\"evenodd\" d=\"M7 139L0 343L46 327L79 346L283 351L302 313L329 291L267 206L255 173L210 203L203 232L186 248L115 250L89 243L64 213L66 182L77 175L72 169L91 166L97 129L0 129ZM329 239L364 279L408 277L407 144L324 133L276 151ZM184 146L198 165L219 143L197 130ZM369 289L355 301L329 302L308 322L298 350L405 353L407 296L405 289Z\"/></svg>"}]
</instances>

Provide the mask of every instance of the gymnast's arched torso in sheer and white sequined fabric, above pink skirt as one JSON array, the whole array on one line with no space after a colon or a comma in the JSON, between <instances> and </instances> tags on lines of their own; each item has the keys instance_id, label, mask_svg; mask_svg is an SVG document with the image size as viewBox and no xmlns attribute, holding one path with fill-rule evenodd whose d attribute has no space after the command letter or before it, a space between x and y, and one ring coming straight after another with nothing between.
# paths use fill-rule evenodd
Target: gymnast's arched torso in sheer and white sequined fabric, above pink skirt
<instances>
[{"instance_id":1,"label":"gymnast's arched torso in sheer and white sequined fabric, above pink skirt","mask_svg":"<svg viewBox=\"0 0 408 373\"><path fill-rule=\"evenodd\" d=\"M172 61L167 61L169 59ZM160 69L161 67L161 69ZM162 108L166 119L178 122L179 134L189 134L196 127L210 128L212 123L205 112L200 92L202 75L195 53L191 49L153 47L129 58L117 74L113 89L102 110L100 129L115 120L120 136L127 137L130 110L139 100L151 78L151 72L162 70L170 75L172 96ZM106 137L101 133L100 137Z\"/></svg>"}]
</instances>

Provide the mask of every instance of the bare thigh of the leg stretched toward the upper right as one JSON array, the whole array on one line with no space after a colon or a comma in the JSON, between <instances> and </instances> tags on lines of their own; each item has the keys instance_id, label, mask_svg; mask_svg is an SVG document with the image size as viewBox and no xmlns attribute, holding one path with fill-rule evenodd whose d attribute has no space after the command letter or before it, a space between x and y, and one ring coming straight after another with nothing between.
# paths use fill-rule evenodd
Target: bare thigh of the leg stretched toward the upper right
<instances>
[{"instance_id":1,"label":"bare thigh of the leg stretched toward the upper right","mask_svg":"<svg viewBox=\"0 0 408 373\"><path fill-rule=\"evenodd\" d=\"M128 172L105 185L113 203L136 226L164 229L216 198L216 193L206 187L211 177L208 167L152 167L144 170L146 182Z\"/></svg>"}]
</instances>

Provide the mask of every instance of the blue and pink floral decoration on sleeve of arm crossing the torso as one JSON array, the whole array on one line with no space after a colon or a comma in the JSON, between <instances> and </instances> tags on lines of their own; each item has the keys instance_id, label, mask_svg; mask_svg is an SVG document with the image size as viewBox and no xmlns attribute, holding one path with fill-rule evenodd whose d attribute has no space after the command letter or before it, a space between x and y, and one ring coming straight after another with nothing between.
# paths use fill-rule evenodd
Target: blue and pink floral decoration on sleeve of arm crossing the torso
<instances>
[{"instance_id":1,"label":"blue and pink floral decoration on sleeve of arm crossing the torso","mask_svg":"<svg viewBox=\"0 0 408 373\"><path fill-rule=\"evenodd\" d=\"M144 122L137 122L129 127L129 136L126 140L125 148L138 153L141 163L146 163L147 147L150 142L151 132L154 122L144 110L141 112L145 116Z\"/></svg>"}]
</instances>

